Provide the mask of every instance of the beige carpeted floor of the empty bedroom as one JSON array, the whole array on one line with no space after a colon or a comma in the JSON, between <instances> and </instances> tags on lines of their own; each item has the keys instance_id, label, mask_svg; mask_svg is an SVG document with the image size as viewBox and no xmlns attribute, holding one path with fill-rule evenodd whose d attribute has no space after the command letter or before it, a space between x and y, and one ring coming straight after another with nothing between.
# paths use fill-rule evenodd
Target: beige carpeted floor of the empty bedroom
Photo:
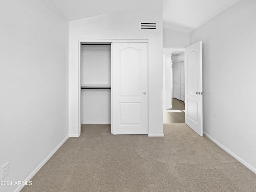
<instances>
[{"instance_id":1,"label":"beige carpeted floor of the empty bedroom","mask_svg":"<svg viewBox=\"0 0 256 192\"><path fill-rule=\"evenodd\" d=\"M83 125L22 192L256 192L256 174L186 124L164 137Z\"/></svg>"}]
</instances>

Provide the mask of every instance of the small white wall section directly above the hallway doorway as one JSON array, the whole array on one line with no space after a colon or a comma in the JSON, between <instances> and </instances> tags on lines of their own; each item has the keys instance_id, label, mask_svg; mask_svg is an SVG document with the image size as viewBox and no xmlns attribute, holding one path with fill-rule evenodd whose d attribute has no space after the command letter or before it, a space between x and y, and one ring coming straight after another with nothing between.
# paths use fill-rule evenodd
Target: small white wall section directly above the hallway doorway
<instances>
[{"instance_id":1,"label":"small white wall section directly above the hallway doorway","mask_svg":"<svg viewBox=\"0 0 256 192\"><path fill-rule=\"evenodd\" d=\"M189 33L163 28L164 47L185 48L189 43Z\"/></svg>"}]
</instances>

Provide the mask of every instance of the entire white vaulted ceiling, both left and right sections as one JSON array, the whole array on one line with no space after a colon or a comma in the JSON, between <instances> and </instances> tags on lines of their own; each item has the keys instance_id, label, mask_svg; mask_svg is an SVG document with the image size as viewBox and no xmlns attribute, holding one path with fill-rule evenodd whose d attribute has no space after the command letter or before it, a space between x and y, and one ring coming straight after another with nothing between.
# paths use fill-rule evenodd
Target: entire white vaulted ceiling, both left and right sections
<instances>
[{"instance_id":1,"label":"entire white vaulted ceiling, both left and right sections","mask_svg":"<svg viewBox=\"0 0 256 192\"><path fill-rule=\"evenodd\" d=\"M163 13L165 28L191 32L238 0L48 0L68 20L143 8Z\"/></svg>"}]
</instances>

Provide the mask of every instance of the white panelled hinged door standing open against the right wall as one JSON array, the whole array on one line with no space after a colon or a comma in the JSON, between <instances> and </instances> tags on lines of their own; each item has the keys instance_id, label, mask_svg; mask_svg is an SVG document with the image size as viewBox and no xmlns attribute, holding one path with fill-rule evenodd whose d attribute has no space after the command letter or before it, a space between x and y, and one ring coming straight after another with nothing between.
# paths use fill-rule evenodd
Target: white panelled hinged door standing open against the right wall
<instances>
[{"instance_id":1,"label":"white panelled hinged door standing open against the right wall","mask_svg":"<svg viewBox=\"0 0 256 192\"><path fill-rule=\"evenodd\" d=\"M203 136L202 41L185 49L185 122Z\"/></svg>"}]
</instances>

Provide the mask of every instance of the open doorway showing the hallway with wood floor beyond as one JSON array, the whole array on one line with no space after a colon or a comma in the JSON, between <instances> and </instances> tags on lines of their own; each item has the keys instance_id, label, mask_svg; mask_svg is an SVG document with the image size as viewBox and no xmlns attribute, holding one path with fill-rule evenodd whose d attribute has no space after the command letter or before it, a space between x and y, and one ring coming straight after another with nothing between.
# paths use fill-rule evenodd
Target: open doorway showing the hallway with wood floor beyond
<instances>
[{"instance_id":1,"label":"open doorway showing the hallway with wood floor beyond","mask_svg":"<svg viewBox=\"0 0 256 192\"><path fill-rule=\"evenodd\" d=\"M184 51L184 48L163 49L164 124L185 123Z\"/></svg>"}]
</instances>

